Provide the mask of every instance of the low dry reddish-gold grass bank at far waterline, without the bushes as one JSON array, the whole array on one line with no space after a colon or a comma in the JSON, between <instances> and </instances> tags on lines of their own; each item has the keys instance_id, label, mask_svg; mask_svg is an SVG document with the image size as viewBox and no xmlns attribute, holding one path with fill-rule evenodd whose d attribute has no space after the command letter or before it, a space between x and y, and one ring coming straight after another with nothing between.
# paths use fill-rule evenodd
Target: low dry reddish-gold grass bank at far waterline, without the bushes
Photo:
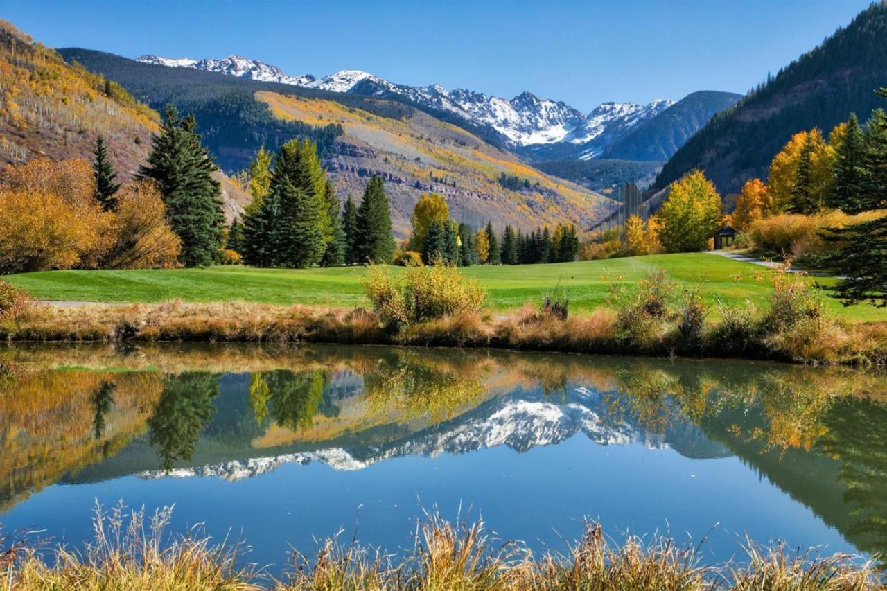
<instances>
[{"instance_id":1,"label":"low dry reddish-gold grass bank at far waterline, without the bushes","mask_svg":"<svg viewBox=\"0 0 887 591\"><path fill-rule=\"evenodd\" d=\"M0 322L7 343L329 343L490 348L643 357L750 359L813 365L883 366L887 327L855 325L846 342L791 350L731 320L705 321L701 334L659 323L643 335L620 330L617 313L561 319L526 307L512 314L463 312L409 325L373 311L261 303L32 304ZM821 340L821 339L817 339Z\"/></svg>"}]
</instances>

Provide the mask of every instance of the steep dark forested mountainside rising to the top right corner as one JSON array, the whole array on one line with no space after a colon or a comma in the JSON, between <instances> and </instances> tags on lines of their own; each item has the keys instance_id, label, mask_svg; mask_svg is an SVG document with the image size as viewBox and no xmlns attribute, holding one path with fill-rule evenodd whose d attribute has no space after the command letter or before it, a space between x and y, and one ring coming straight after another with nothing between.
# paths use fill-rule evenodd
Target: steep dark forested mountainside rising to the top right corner
<instances>
[{"instance_id":1,"label":"steep dark forested mountainside rising to the top right corner","mask_svg":"<svg viewBox=\"0 0 887 591\"><path fill-rule=\"evenodd\" d=\"M863 121L883 106L874 89L887 84L887 4L872 4L773 80L713 117L665 164L663 188L690 169L703 169L721 192L737 192L767 166L799 130L828 133L856 112Z\"/></svg>"}]
</instances>

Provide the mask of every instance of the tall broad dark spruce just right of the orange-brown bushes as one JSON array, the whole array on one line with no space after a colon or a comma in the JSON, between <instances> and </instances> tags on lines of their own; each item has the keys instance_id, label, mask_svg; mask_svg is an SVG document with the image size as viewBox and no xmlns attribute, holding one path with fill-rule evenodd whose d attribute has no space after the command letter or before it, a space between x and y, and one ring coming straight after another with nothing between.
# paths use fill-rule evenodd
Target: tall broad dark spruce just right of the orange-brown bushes
<instances>
[{"instance_id":1,"label":"tall broad dark spruce just right of the orange-brown bushes","mask_svg":"<svg viewBox=\"0 0 887 591\"><path fill-rule=\"evenodd\" d=\"M212 156L200 145L193 115L179 119L176 108L167 106L138 177L152 178L160 188L169 225L182 240L179 259L186 266L212 264L222 248L224 214L215 171Z\"/></svg>"}]
</instances>

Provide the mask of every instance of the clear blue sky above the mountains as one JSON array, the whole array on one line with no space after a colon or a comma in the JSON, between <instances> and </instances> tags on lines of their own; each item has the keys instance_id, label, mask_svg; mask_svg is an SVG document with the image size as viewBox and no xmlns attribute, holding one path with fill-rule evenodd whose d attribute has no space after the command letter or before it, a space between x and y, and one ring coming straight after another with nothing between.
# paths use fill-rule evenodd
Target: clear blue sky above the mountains
<instances>
[{"instance_id":1,"label":"clear blue sky above the mountains","mask_svg":"<svg viewBox=\"0 0 887 591\"><path fill-rule=\"evenodd\" d=\"M288 74L362 69L589 111L698 90L745 92L869 0L4 0L51 47L262 59Z\"/></svg>"}]
</instances>

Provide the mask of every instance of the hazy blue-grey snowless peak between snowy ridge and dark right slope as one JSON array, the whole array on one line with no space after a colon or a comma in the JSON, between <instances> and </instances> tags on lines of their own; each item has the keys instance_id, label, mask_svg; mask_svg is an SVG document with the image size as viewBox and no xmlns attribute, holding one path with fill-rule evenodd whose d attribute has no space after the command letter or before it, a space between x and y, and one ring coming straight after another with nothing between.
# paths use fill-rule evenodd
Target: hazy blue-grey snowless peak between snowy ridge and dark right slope
<instances>
[{"instance_id":1,"label":"hazy blue-grey snowless peak between snowy ridge and dark right slope","mask_svg":"<svg viewBox=\"0 0 887 591\"><path fill-rule=\"evenodd\" d=\"M616 139L602 158L666 161L701 130L711 117L742 98L734 92L698 91L681 98L654 117Z\"/></svg>"}]
</instances>

